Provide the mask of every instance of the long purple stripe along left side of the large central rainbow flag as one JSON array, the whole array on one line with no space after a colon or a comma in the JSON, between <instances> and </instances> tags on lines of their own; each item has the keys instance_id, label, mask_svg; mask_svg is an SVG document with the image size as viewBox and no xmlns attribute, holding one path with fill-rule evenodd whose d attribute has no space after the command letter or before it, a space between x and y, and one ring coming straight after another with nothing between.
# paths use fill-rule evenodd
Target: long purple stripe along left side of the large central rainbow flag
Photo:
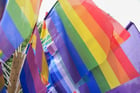
<instances>
[{"instance_id":1,"label":"long purple stripe along left side of the large central rainbow flag","mask_svg":"<svg viewBox=\"0 0 140 93\"><path fill-rule=\"evenodd\" d=\"M49 22L49 24L47 24L48 30L58 48L58 51L63 59L66 68L68 69L73 81L77 83L81 77L68 53L68 50L64 44L63 39L61 38L60 34L58 34L52 20L48 18L46 22Z\"/></svg>"}]
</instances>

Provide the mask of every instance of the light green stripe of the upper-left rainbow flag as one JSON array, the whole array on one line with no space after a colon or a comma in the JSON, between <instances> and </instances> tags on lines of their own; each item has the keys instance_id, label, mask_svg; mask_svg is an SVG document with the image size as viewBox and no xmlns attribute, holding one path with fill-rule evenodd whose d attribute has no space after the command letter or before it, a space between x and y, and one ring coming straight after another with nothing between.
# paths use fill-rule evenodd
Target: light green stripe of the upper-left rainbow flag
<instances>
[{"instance_id":1,"label":"light green stripe of the upper-left rainbow flag","mask_svg":"<svg viewBox=\"0 0 140 93\"><path fill-rule=\"evenodd\" d=\"M27 38L30 35L32 28L15 0L9 0L7 11L22 37L24 39Z\"/></svg>"}]
</instances>

